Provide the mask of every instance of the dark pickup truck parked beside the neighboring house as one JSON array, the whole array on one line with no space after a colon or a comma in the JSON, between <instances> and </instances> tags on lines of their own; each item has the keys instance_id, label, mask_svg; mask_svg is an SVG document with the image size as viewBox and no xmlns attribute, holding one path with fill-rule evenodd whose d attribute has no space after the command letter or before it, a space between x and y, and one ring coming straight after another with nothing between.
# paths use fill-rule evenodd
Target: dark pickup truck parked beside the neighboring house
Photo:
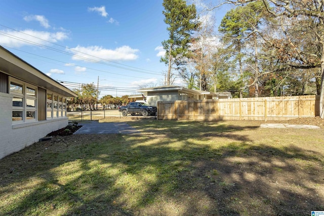
<instances>
[{"instance_id":1,"label":"dark pickup truck parked beside the neighboring house","mask_svg":"<svg viewBox=\"0 0 324 216\"><path fill-rule=\"evenodd\" d=\"M131 102L127 106L119 107L119 112L121 112L123 116L127 116L128 113L131 115L142 114L143 116L148 116L155 115L157 108L143 102Z\"/></svg>"}]
</instances>

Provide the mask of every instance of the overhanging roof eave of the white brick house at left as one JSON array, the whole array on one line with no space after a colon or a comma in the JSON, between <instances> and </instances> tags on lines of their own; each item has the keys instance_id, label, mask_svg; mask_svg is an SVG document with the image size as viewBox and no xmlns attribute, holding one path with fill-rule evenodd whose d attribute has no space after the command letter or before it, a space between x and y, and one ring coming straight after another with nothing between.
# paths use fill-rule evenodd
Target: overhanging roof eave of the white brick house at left
<instances>
[{"instance_id":1,"label":"overhanging roof eave of the white brick house at left","mask_svg":"<svg viewBox=\"0 0 324 216\"><path fill-rule=\"evenodd\" d=\"M0 46L0 71L66 97L77 95L42 71Z\"/></svg>"}]
</instances>

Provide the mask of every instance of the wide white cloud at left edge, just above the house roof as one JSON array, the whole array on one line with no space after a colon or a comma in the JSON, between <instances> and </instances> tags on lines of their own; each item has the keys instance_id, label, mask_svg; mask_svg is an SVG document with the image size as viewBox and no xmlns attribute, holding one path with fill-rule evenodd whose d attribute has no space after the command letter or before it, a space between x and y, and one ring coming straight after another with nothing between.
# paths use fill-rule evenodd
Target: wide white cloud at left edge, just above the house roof
<instances>
[{"instance_id":1,"label":"wide white cloud at left edge, just above the house roof","mask_svg":"<svg viewBox=\"0 0 324 216\"><path fill-rule=\"evenodd\" d=\"M47 41L57 42L68 38L68 34L66 32L52 33L47 31L34 31L30 29L23 31L2 30L2 32L4 32L4 34L0 34L1 44L13 48L22 46L38 46L38 44L49 45Z\"/></svg>"}]
</instances>

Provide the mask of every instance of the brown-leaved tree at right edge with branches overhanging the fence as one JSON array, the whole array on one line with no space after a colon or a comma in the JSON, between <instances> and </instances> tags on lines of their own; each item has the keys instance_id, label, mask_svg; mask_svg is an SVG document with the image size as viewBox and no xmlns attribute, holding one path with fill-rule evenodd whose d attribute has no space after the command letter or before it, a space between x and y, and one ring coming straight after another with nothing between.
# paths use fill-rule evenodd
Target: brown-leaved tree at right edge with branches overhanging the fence
<instances>
[{"instance_id":1,"label":"brown-leaved tree at right edge with branches overhanging the fence","mask_svg":"<svg viewBox=\"0 0 324 216\"><path fill-rule=\"evenodd\" d=\"M257 0L227 0L227 3L242 5ZM322 1L262 1L267 11L279 21L282 38L268 40L268 46L275 48L279 60L286 61L286 68L320 68L320 117L324 118L324 12ZM274 7L273 11L269 6ZM285 22L282 22L284 20ZM287 22L288 21L288 22ZM284 24L285 23L285 24ZM292 34L287 24L300 29ZM276 34L278 35L278 33ZM304 44L301 41L304 41ZM303 46L305 45L305 46ZM281 58L281 59L280 59ZM288 61L287 61L288 60ZM282 68L281 68L282 69ZM287 69L282 69L287 70Z\"/></svg>"}]
</instances>

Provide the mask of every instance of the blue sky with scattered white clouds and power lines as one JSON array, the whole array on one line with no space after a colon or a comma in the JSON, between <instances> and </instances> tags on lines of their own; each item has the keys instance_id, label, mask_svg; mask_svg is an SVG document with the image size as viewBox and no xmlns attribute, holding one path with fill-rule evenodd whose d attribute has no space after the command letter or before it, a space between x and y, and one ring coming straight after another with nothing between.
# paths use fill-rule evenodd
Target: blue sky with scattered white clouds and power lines
<instances>
[{"instance_id":1,"label":"blue sky with scattered white clouds and power lines","mask_svg":"<svg viewBox=\"0 0 324 216\"><path fill-rule=\"evenodd\" d=\"M162 2L0 0L0 46L69 89L94 83L100 98L138 94L164 85L168 70ZM216 11L217 22L225 13Z\"/></svg>"}]
</instances>

